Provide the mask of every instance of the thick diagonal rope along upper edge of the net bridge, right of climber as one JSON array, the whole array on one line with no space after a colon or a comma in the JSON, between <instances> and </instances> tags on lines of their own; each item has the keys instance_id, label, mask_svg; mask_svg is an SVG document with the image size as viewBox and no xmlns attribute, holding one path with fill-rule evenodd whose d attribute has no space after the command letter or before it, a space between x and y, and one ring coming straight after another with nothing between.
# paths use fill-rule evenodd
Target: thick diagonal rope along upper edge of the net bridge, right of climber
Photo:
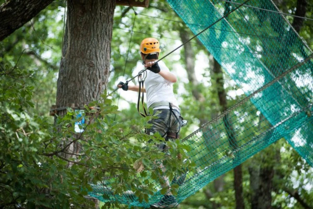
<instances>
[{"instance_id":1,"label":"thick diagonal rope along upper edge of the net bridge, right of climber","mask_svg":"<svg viewBox=\"0 0 313 209\"><path fill-rule=\"evenodd\" d=\"M277 76L274 80L270 81L269 83L265 84L264 86L262 86L261 88L259 88L258 90L254 91L252 94L250 94L248 97L245 97L244 99L240 100L238 103L236 103L235 105L233 105L232 107L229 107L227 110L225 110L224 112L222 112L220 115L218 115L217 117L213 118L211 121L209 121L208 123L205 123L204 125L202 125L198 130L194 131L193 133L189 134L186 138L183 139L183 141L187 140L190 136L192 136L193 134L197 133L201 128L204 128L210 124L212 124L213 122L217 121L220 118L223 118L225 115L227 115L228 113L230 113L231 111L233 111L234 109L236 109L237 107L239 107L240 105L244 104L244 102L247 102L249 99L251 99L254 95L256 95L257 93L263 91L264 89L266 89L267 87L273 85L276 81L280 80L281 78L285 77L288 73L290 73L291 71L294 71L295 69L299 68L300 66L304 65L306 62L308 62L310 59L313 58L313 53L310 54L307 58L305 58L302 62L299 62L298 64L294 65L293 67L291 67L290 69L288 69L287 71L283 72L282 74L280 74L279 76ZM311 104L310 104L311 105ZM309 106L310 106L309 105ZM307 107L304 107L307 108Z\"/></svg>"}]
</instances>

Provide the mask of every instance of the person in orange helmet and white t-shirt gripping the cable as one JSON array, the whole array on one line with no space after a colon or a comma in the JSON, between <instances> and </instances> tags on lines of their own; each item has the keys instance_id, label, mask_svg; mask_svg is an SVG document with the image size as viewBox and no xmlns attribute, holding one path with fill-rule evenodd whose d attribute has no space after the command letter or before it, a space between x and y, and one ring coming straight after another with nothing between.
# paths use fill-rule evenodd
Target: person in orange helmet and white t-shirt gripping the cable
<instances>
[{"instance_id":1,"label":"person in orange helmet and white t-shirt gripping the cable","mask_svg":"<svg viewBox=\"0 0 313 209\"><path fill-rule=\"evenodd\" d=\"M147 129L146 133L152 135L158 132L165 138L165 141L168 141L179 138L182 117L173 92L173 83L177 81L177 77L169 71L162 60L157 61L160 52L160 43L157 39L146 38L142 40L140 54L143 65L147 69L147 76L145 88L141 91L146 92L147 107L153 109L154 115L158 113L158 118L148 122L151 124L151 128ZM139 91L139 86L128 85L127 82L120 82L118 87L125 91ZM162 151L166 149L166 144L164 143L156 146ZM160 168L165 172L162 163ZM165 181L165 185L162 185L162 187L168 188L167 193L159 202L151 205L151 208L171 208L177 205L177 201L170 191L170 183L167 176L162 176L162 178ZM174 179L173 181L177 180Z\"/></svg>"}]
</instances>

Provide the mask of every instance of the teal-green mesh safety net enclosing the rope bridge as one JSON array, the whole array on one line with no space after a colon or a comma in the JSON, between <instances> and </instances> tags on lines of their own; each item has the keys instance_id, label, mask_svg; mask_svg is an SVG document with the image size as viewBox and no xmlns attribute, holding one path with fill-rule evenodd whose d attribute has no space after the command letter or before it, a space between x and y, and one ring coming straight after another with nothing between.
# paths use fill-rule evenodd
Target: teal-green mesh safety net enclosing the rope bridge
<instances>
[{"instance_id":1,"label":"teal-green mesh safety net enclosing the rope bridge","mask_svg":"<svg viewBox=\"0 0 313 209\"><path fill-rule=\"evenodd\" d=\"M194 34L243 3L167 1ZM313 166L312 52L271 0L246 4L198 36L247 97L182 140L196 168L180 184L178 203L283 137ZM130 191L114 195L114 178L93 185L89 195L149 207L162 198L162 187L149 175L141 180L157 191L148 202Z\"/></svg>"}]
</instances>

